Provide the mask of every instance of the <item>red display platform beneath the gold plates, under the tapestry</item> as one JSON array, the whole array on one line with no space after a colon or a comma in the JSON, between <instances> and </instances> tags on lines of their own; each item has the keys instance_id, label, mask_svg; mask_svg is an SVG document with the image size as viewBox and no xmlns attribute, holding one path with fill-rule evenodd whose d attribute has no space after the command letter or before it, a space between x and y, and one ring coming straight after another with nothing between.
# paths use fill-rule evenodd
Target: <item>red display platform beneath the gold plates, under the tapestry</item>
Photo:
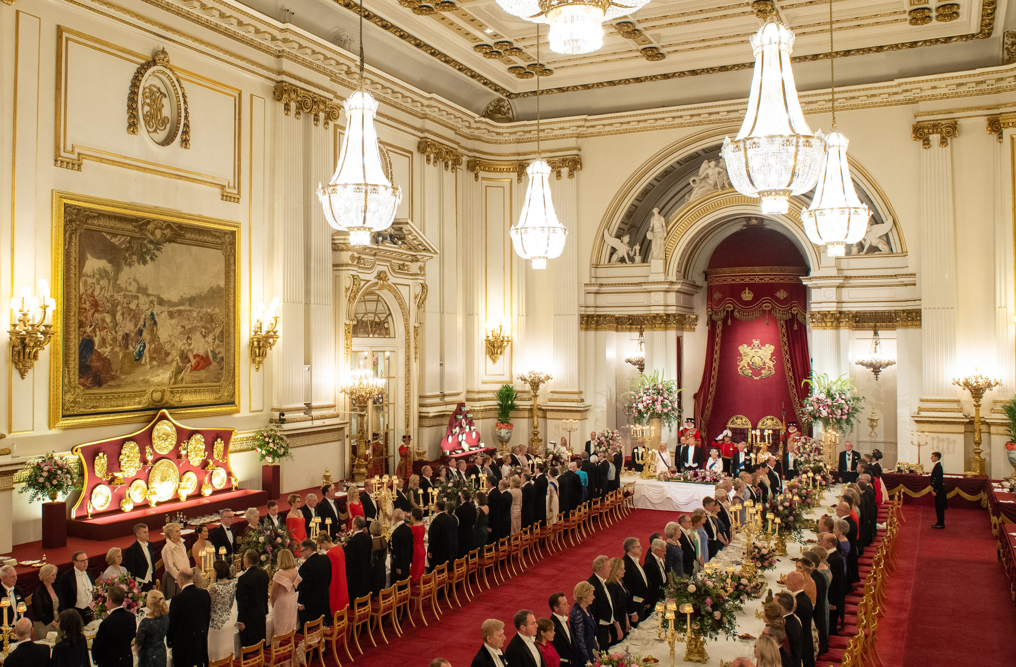
<instances>
[{"instance_id":1,"label":"red display platform beneath the gold plates, under the tapestry","mask_svg":"<svg viewBox=\"0 0 1016 667\"><path fill-rule=\"evenodd\" d=\"M178 512L182 512L188 518L226 509L242 513L247 508L256 508L267 502L267 491L249 488L217 491L207 497L199 495L188 498L185 503L180 501L164 503L155 508L138 506L130 512L107 512L99 517L92 516L91 519L68 519L67 535L88 540L111 540L132 535L136 524L145 524L149 530L161 531L166 525L167 515L175 515Z\"/></svg>"}]
</instances>

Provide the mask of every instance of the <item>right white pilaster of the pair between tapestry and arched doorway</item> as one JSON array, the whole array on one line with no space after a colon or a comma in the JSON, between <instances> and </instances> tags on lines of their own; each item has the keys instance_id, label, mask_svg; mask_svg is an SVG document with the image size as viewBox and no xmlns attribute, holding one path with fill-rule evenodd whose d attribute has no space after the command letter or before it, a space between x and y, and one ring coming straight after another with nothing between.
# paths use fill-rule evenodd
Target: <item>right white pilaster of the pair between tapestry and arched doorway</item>
<instances>
[{"instance_id":1,"label":"right white pilaster of the pair between tapestry and arched doorway","mask_svg":"<svg viewBox=\"0 0 1016 667\"><path fill-rule=\"evenodd\" d=\"M332 130L324 124L315 126L307 115L303 121L306 152L304 179L304 220L307 225L307 350L305 357L311 366L311 397L315 406L335 405L335 326L332 314L331 232L324 210L317 197L319 183L328 183L332 172Z\"/></svg>"}]
</instances>

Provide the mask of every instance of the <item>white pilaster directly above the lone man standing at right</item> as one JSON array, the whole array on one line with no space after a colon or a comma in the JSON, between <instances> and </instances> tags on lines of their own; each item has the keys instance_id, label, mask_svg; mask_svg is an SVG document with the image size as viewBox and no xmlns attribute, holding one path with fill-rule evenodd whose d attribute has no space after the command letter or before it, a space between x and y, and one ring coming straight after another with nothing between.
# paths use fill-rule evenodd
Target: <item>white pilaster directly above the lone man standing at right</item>
<instances>
[{"instance_id":1,"label":"white pilaster directly above the lone man standing at right","mask_svg":"<svg viewBox=\"0 0 1016 667\"><path fill-rule=\"evenodd\" d=\"M952 144L920 149L922 398L955 399L956 220Z\"/></svg>"}]
</instances>

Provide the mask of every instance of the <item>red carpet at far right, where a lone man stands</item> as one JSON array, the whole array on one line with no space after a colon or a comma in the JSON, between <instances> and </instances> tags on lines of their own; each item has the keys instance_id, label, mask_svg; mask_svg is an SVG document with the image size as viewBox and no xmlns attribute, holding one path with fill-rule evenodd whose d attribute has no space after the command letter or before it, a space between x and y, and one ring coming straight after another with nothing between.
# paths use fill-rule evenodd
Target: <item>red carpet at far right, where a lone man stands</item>
<instances>
[{"instance_id":1,"label":"red carpet at far right, where a lone man stands","mask_svg":"<svg viewBox=\"0 0 1016 667\"><path fill-rule=\"evenodd\" d=\"M903 516L878 629L885 665L1016 665L1016 606L988 513L950 508L945 530L931 528L934 508L905 505Z\"/></svg>"}]
</instances>

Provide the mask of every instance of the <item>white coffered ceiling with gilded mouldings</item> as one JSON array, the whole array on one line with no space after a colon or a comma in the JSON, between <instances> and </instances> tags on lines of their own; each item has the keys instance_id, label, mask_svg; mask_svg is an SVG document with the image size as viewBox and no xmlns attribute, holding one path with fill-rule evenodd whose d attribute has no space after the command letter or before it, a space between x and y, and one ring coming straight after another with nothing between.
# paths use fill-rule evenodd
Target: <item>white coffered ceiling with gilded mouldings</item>
<instances>
[{"instance_id":1,"label":"white coffered ceiling with gilded mouldings","mask_svg":"<svg viewBox=\"0 0 1016 667\"><path fill-rule=\"evenodd\" d=\"M401 1L406 5L421 2ZM452 1L453 11L430 15L418 15L396 0L365 2L367 62L475 113L505 95L512 98L516 120L534 115L534 78L517 78L508 68L535 62L535 24L511 16L494 0ZM354 53L359 49L352 0L242 2ZM999 65L1002 26L1008 22L1006 3L998 0L996 7L996 0L959 0L957 19L910 25L909 11L927 7L934 15L936 6L945 3L835 0L835 50L850 50L841 54L848 57L836 59L837 84ZM793 56L799 89L827 88L828 59L809 57L829 51L828 2L777 0L776 7L797 35ZM616 25L623 21L633 22L639 31L622 37ZM542 97L542 111L545 117L556 117L745 97L754 62L748 38L759 24L750 2L651 0L632 16L606 24L604 48L582 56L551 52L547 26L541 26L541 59L553 70L551 76L541 77L541 87L553 92ZM990 39L957 39L983 35L986 27L994 28ZM519 51L492 59L475 49L490 45L503 51L509 46L498 42L509 42ZM913 43L922 46L893 46ZM924 46L929 43L940 46ZM640 53L646 47L657 48L665 58L647 60Z\"/></svg>"}]
</instances>

